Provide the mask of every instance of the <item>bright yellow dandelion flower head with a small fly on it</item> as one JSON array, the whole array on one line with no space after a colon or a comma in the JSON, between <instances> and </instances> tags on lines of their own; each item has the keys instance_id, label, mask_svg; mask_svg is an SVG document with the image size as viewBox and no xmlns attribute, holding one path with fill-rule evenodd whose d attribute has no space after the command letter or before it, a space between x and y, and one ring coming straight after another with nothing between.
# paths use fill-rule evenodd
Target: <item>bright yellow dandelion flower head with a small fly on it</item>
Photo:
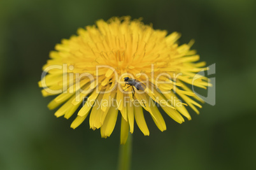
<instances>
[{"instance_id":1,"label":"bright yellow dandelion flower head with a small fly on it","mask_svg":"<svg viewBox=\"0 0 256 170\"><path fill-rule=\"evenodd\" d=\"M201 105L195 100L203 100L185 83L206 89L208 79L197 74L206 68L205 62L195 63L199 55L190 50L192 42L178 46L178 38L177 32L167 35L130 17L98 20L78 29L78 36L55 46L43 66L43 96L59 94L48 108L63 104L55 116L70 118L82 106L71 127L78 127L90 113L90 128L100 128L103 138L111 135L120 111L121 143L134 131L134 118L149 135L143 108L160 131L166 124L159 108L180 124L183 117L190 120L186 106L199 113L195 106Z\"/></svg>"}]
</instances>

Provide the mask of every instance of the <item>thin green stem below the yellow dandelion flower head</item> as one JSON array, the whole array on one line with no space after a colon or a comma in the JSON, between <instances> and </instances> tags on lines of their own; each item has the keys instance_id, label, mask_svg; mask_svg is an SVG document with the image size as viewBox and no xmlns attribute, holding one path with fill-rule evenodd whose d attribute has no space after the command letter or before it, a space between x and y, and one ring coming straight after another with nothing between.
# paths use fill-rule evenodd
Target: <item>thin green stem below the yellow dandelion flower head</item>
<instances>
[{"instance_id":1,"label":"thin green stem below the yellow dandelion flower head","mask_svg":"<svg viewBox=\"0 0 256 170\"><path fill-rule=\"evenodd\" d=\"M128 139L125 145L120 145L119 147L118 170L131 169L131 157L132 157L132 134L129 133Z\"/></svg>"}]
</instances>

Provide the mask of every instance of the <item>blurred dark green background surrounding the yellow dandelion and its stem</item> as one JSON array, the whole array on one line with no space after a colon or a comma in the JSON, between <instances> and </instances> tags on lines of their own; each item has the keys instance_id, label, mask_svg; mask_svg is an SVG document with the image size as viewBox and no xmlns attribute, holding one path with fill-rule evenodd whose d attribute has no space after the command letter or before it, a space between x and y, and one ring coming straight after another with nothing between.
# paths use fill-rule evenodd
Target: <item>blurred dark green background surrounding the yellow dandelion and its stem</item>
<instances>
[{"instance_id":1,"label":"blurred dark green background surrounding the yellow dandelion and its stem","mask_svg":"<svg viewBox=\"0 0 256 170\"><path fill-rule=\"evenodd\" d=\"M78 27L131 15L169 33L216 63L216 105L192 121L164 114L160 132L146 115L150 136L135 125L132 169L256 169L256 1L0 1L0 169L116 169L120 115L110 138L75 131L55 118L38 87L48 53Z\"/></svg>"}]
</instances>

